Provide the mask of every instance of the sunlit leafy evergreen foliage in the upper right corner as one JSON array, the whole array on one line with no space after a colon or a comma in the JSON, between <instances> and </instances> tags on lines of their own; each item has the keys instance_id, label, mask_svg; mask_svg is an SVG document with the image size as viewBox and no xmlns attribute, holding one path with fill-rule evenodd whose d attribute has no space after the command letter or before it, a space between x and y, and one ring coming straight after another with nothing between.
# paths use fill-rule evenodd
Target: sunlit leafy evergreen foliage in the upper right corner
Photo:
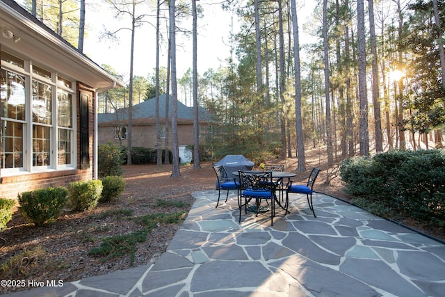
<instances>
[{"instance_id":1,"label":"sunlit leafy evergreen foliage in the upper right corner","mask_svg":"<svg viewBox=\"0 0 445 297\"><path fill-rule=\"evenodd\" d=\"M441 12L444 1L437 1ZM410 31L416 32L407 36L403 47L414 53L410 63L412 85L409 97L405 100L405 109L410 110L410 116L403 121L405 129L428 133L434 127L445 122L444 97L439 50L437 40L442 38L442 32L435 24L432 2L418 0L408 8L412 11ZM442 26L445 15L439 14Z\"/></svg>"}]
</instances>

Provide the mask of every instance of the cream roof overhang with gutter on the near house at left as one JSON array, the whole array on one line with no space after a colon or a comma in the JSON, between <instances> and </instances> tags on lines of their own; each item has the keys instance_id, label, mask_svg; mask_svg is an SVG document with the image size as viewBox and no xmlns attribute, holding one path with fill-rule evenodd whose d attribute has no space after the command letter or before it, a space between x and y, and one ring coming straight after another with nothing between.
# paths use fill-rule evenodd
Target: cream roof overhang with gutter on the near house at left
<instances>
[{"instance_id":1,"label":"cream roof overhang with gutter on the near house at left","mask_svg":"<svg viewBox=\"0 0 445 297\"><path fill-rule=\"evenodd\" d=\"M41 66L98 90L124 86L15 1L0 1L0 31L1 49L13 51L11 54L24 54ZM7 38L5 31L13 37Z\"/></svg>"}]
</instances>

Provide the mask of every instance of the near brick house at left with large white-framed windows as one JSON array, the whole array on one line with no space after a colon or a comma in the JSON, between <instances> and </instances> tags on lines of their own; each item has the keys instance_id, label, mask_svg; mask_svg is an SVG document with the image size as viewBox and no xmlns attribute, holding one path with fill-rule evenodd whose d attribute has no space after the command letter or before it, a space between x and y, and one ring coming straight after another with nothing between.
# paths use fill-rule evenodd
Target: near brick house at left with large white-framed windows
<instances>
[{"instance_id":1,"label":"near brick house at left with large white-framed windows","mask_svg":"<svg viewBox=\"0 0 445 297\"><path fill-rule=\"evenodd\" d=\"M97 92L123 86L15 1L0 1L0 197L97 178Z\"/></svg>"}]
</instances>

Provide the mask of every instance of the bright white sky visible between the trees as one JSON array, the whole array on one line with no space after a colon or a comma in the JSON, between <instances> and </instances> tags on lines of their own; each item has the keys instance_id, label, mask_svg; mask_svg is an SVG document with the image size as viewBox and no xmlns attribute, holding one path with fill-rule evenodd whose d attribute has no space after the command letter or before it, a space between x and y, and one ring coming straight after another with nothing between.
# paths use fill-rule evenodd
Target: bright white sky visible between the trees
<instances>
[{"instance_id":1,"label":"bright white sky visible between the trees","mask_svg":"<svg viewBox=\"0 0 445 297\"><path fill-rule=\"evenodd\" d=\"M234 33L240 26L238 17L235 13L223 10L220 4L215 0L199 1L204 9L204 17L198 19L197 35L197 68L200 74L204 74L209 68L227 66L226 59L230 56L229 35L232 23L234 22ZM297 1L298 2L298 1ZM300 1L301 2L301 1ZM87 3L95 3L88 6L86 11L86 25L90 33L86 38L83 52L89 56L92 61L98 65L110 65L118 73L124 75L124 82L129 79L130 72L130 31L121 31L118 36L120 42L111 42L109 40L99 40L103 32L103 26L106 24L108 29L116 30L130 25L129 19L118 20L113 17L113 12L106 9L106 6L100 0L87 0ZM302 24L307 22L307 18L312 14L314 1L307 0L304 8L298 10L298 22L300 27L300 43L304 43L310 38L305 37L302 30ZM135 53L133 63L133 75L147 77L148 74L154 74L156 65L156 31L154 24L155 16L146 18L153 25L144 24L136 29L135 35ZM191 18L188 22L188 28L191 29ZM162 26L162 24L161 24ZM163 28L165 28L165 23ZM164 33L165 35L165 33ZM166 67L167 52L166 43L161 48L160 64ZM186 38L184 35L177 34L177 76L180 78L188 68L192 68L192 38L191 35Z\"/></svg>"}]
</instances>

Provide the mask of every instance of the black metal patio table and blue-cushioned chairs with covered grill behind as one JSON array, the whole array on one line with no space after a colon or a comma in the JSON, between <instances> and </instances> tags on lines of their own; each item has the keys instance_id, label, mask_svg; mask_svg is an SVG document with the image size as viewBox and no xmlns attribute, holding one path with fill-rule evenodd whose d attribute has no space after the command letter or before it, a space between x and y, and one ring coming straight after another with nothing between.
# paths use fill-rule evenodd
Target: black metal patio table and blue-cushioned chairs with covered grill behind
<instances>
[{"instance_id":1,"label":"black metal patio table and blue-cushioned chairs with covered grill behind","mask_svg":"<svg viewBox=\"0 0 445 297\"><path fill-rule=\"evenodd\" d=\"M289 214L289 193L305 194L309 209L316 217L312 194L314 193L314 183L318 177L320 169L312 168L305 184L293 184L294 172L284 171L284 165L264 164L260 168L253 168L253 163L245 161L241 155L229 155L232 161L224 163L225 159L213 166L216 172L216 189L218 190L218 202L220 202L221 191L227 191L225 202L229 198L229 191L236 191L239 208L239 223L241 214L248 214L249 211L260 213L270 211L270 225L273 225L275 217L275 207L280 207ZM230 158L228 158L230 159ZM234 159L234 160L233 160ZM262 200L267 204L261 206Z\"/></svg>"}]
</instances>

